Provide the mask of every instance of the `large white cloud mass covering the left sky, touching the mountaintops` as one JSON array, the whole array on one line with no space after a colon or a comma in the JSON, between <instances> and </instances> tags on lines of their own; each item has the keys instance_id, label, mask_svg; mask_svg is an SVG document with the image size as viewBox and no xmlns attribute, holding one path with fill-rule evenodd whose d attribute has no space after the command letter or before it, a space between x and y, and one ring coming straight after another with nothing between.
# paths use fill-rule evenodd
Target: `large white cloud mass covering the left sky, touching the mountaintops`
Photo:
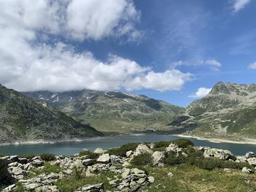
<instances>
[{"instance_id":1,"label":"large white cloud mass covering the left sky, touching the mountaintops","mask_svg":"<svg viewBox=\"0 0 256 192\"><path fill-rule=\"evenodd\" d=\"M181 89L192 77L178 70L154 72L118 55L99 61L91 52L78 53L58 40L48 43L51 36L59 35L99 40L116 34L135 40L140 37L135 28L140 12L132 1L38 0L31 6L29 0L10 0L0 1L0 6L0 83L9 88L166 91Z\"/></svg>"}]
</instances>

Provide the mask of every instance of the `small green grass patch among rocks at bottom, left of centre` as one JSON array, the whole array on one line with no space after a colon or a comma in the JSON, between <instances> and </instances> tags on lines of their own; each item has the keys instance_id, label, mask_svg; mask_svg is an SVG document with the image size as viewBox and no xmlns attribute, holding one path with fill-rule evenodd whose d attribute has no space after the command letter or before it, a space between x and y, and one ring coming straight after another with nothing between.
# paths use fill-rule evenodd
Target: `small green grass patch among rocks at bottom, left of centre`
<instances>
[{"instance_id":1,"label":"small green grass patch among rocks at bottom, left of centre","mask_svg":"<svg viewBox=\"0 0 256 192\"><path fill-rule=\"evenodd\" d=\"M109 180L115 179L115 174L113 172L101 172L98 175L90 177L76 177L72 174L71 177L58 180L55 185L58 186L59 190L62 192L75 191L75 189L83 187L84 185L90 184L94 185L97 183L104 183L105 190L113 190L113 188L108 184Z\"/></svg>"}]
</instances>

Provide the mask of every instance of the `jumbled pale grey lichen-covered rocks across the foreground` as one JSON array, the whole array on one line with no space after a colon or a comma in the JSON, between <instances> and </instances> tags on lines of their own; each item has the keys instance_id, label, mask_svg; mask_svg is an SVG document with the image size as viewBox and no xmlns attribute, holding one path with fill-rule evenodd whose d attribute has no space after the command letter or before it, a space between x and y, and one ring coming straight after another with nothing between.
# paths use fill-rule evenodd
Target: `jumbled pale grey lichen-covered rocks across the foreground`
<instances>
[{"instance_id":1,"label":"jumbled pale grey lichen-covered rocks across the foreground","mask_svg":"<svg viewBox=\"0 0 256 192\"><path fill-rule=\"evenodd\" d=\"M229 150L220 150L210 147L193 147L189 150L203 154L203 158L221 160L223 162L233 162L235 165L243 163L244 166L240 172L245 174L255 173L256 154L249 152L243 156L233 155ZM186 149L186 150L184 150ZM111 191L143 191L144 188L153 183L159 182L152 175L144 170L136 168L134 160L143 155L151 158L151 166L163 167L168 164L167 157L172 159L185 159L189 157L190 152L187 147L180 147L171 142L167 147L157 147L155 144L140 144L135 150L125 151L125 155L111 155L114 150L104 151L100 148L94 153L83 153L74 156L55 156L50 159L42 159L42 156L33 158L21 158L18 155L4 156L0 158L0 184L2 191L62 191L58 182L69 177L97 179L97 175L102 172L113 173L113 178L108 178L108 182L99 182L95 184L86 184L76 188L75 192L84 191L107 191L105 185L110 186ZM83 154L88 155L83 155ZM94 155L91 155L94 154ZM193 152L194 154L194 152ZM148 159L141 159L148 161ZM139 159L140 161L140 159ZM179 160L180 161L180 160ZM149 162L149 161L148 161ZM174 161L173 161L174 162ZM215 161L214 161L215 162ZM59 172L42 172L45 167L55 167ZM233 169L225 168L225 172L232 172ZM172 176L171 172L168 176ZM72 183L70 183L72 185ZM110 191L110 190L108 190Z\"/></svg>"}]
</instances>

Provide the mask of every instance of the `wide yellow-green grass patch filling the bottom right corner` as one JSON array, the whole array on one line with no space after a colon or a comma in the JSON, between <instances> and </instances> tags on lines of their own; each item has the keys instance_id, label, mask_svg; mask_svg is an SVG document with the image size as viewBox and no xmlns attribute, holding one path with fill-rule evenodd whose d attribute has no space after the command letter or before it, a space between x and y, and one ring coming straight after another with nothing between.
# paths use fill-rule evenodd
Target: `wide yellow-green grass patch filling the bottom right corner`
<instances>
[{"instance_id":1,"label":"wide yellow-green grass patch filling the bottom right corner","mask_svg":"<svg viewBox=\"0 0 256 192\"><path fill-rule=\"evenodd\" d=\"M224 172L222 169L208 171L189 164L176 166L148 167L149 175L153 176L155 182L144 190L154 191L218 191L218 192L240 192L256 190L256 175L244 174L241 171ZM173 177L167 176L168 172ZM249 183L247 182L249 181Z\"/></svg>"}]
</instances>

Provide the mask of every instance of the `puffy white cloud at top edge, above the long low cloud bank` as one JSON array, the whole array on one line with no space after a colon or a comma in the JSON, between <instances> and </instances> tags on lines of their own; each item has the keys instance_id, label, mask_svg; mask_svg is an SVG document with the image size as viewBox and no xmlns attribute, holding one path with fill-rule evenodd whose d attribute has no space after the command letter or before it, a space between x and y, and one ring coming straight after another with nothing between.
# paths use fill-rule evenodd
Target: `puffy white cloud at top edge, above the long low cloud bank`
<instances>
[{"instance_id":1,"label":"puffy white cloud at top edge, above the long low cloud bank","mask_svg":"<svg viewBox=\"0 0 256 192\"><path fill-rule=\"evenodd\" d=\"M139 20L140 12L130 0L73 0L67 7L67 30L75 39L140 39L141 31L135 28Z\"/></svg>"}]
</instances>

